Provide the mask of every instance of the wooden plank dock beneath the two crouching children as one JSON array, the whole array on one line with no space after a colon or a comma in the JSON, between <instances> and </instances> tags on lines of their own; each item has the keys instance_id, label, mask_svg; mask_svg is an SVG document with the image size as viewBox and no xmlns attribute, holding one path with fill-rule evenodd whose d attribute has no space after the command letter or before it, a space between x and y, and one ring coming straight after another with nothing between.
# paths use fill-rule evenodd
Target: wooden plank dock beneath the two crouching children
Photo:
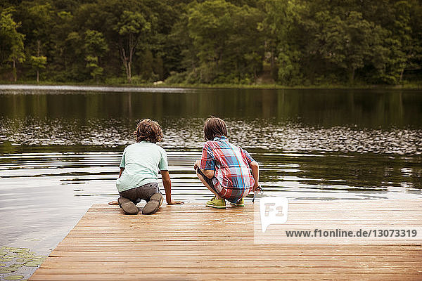
<instances>
[{"instance_id":1,"label":"wooden plank dock beneath the two crouching children","mask_svg":"<svg viewBox=\"0 0 422 281\"><path fill-rule=\"evenodd\" d=\"M288 222L298 228L336 220L372 228L422 226L416 200L289 204ZM418 242L260 244L253 214L250 201L225 210L163 204L152 216L94 204L30 280L422 280L422 233Z\"/></svg>"}]
</instances>

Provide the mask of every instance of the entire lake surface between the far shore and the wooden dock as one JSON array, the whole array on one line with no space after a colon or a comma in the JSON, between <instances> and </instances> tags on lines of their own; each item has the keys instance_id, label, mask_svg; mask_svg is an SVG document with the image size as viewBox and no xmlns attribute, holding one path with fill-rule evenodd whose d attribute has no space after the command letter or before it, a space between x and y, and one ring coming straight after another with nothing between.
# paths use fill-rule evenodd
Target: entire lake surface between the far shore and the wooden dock
<instances>
[{"instance_id":1,"label":"entire lake surface between the far shore and the wooden dock","mask_svg":"<svg viewBox=\"0 0 422 281\"><path fill-rule=\"evenodd\" d=\"M260 163L266 195L422 199L422 91L0 86L0 245L48 254L116 200L143 118L164 131L174 199L205 203L192 167L210 115Z\"/></svg>"}]
</instances>

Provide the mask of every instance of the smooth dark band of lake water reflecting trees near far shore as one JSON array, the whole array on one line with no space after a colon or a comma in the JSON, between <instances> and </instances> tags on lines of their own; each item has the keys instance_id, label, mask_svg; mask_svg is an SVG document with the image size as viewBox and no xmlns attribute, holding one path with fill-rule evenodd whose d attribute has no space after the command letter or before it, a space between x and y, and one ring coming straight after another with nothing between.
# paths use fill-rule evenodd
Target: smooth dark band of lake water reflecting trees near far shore
<instances>
[{"instance_id":1,"label":"smooth dark band of lake water reflecting trees near far shore","mask_svg":"<svg viewBox=\"0 0 422 281\"><path fill-rule=\"evenodd\" d=\"M165 122L170 117L190 119L217 115L235 120L276 119L309 126L349 126L359 129L421 129L422 126L421 91L160 91L5 91L0 86L0 116L12 119L76 118L86 122L91 119L133 120L151 117Z\"/></svg>"}]
</instances>

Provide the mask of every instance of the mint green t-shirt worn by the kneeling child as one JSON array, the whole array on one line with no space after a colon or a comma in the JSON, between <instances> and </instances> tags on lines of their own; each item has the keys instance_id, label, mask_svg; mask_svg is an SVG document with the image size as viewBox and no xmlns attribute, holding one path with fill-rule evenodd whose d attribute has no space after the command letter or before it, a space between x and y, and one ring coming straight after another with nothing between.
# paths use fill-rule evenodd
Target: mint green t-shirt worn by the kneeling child
<instances>
[{"instance_id":1,"label":"mint green t-shirt worn by the kneeling child","mask_svg":"<svg viewBox=\"0 0 422 281\"><path fill-rule=\"evenodd\" d=\"M124 148L120 168L124 168L122 176L116 182L120 192L147 183L158 183L158 171L169 169L167 154L164 148L155 143L134 143Z\"/></svg>"}]
</instances>

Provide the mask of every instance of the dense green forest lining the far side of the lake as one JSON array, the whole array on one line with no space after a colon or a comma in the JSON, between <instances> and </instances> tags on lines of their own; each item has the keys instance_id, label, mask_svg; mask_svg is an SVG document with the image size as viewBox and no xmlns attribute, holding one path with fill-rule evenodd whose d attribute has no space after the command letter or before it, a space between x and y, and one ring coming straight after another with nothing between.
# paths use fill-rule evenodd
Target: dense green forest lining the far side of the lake
<instances>
[{"instance_id":1,"label":"dense green forest lining the far side of the lake","mask_svg":"<svg viewBox=\"0 0 422 281\"><path fill-rule=\"evenodd\" d=\"M422 81L420 0L2 0L0 81Z\"/></svg>"}]
</instances>

